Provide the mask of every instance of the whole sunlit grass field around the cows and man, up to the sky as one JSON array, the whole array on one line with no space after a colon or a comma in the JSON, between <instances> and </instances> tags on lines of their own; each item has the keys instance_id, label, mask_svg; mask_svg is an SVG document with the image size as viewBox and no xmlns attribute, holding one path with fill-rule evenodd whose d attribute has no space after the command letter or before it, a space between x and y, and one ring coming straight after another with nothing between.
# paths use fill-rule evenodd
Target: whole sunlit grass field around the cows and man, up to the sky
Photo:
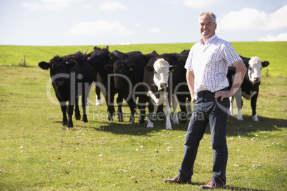
<instances>
[{"instance_id":1,"label":"whole sunlit grass field around the cows and man, up to the sky","mask_svg":"<svg viewBox=\"0 0 287 191\"><path fill-rule=\"evenodd\" d=\"M263 43L249 43L246 50L240 48L243 47L240 43L233 43L239 54L249 56L254 49L256 56L271 64L269 76L262 76L258 96L260 122L252 122L248 100L243 100L243 122L228 118L226 190L287 190L284 63L287 49L281 50L286 44L274 43L278 50L271 51L262 46ZM110 46L110 49L163 53L178 52L189 46L191 44L187 43ZM1 49L0 190L198 190L199 185L211 179L213 154L208 128L198 149L192 185L173 185L163 184L163 179L178 173L187 124L164 130L165 123L156 120L155 128L146 128L139 125L138 116L135 124L127 124L127 105L124 105L124 123L116 120L107 123L104 103L89 105L89 123L74 120L74 130L69 131L61 125L59 106L49 102L46 96L49 72L36 65L39 61L49 61L56 54L84 51L92 46L11 46L14 50L22 50L18 56L6 50L10 46L0 46L3 47L7 58ZM271 57L275 51L278 55ZM23 53L30 67L18 66ZM93 89L91 103L95 98ZM104 102L104 98L101 99Z\"/></svg>"}]
</instances>

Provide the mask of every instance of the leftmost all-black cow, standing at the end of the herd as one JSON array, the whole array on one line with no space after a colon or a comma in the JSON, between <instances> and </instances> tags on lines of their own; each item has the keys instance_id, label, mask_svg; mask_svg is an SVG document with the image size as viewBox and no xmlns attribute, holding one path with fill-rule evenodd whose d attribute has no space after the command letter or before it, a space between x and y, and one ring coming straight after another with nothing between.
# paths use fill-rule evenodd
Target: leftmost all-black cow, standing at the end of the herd
<instances>
[{"instance_id":1,"label":"leftmost all-black cow, standing at the end of the herd","mask_svg":"<svg viewBox=\"0 0 287 191\"><path fill-rule=\"evenodd\" d=\"M82 121L87 123L86 103L94 72L89 61L87 61L86 55L78 52L63 57L55 56L49 63L41 61L38 66L44 70L50 70L52 86L63 113L62 124L67 126L67 130L73 128L72 115L74 105L76 105L76 120L81 119L78 105L80 95L83 108ZM66 102L68 102L68 107ZM66 113L68 114L68 119Z\"/></svg>"}]
</instances>

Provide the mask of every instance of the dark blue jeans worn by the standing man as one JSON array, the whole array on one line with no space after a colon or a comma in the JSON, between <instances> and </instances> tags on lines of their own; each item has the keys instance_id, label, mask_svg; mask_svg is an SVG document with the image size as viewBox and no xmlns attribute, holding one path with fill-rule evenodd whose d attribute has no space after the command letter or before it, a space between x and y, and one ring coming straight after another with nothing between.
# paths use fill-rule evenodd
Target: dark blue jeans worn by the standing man
<instances>
[{"instance_id":1,"label":"dark blue jeans worn by the standing man","mask_svg":"<svg viewBox=\"0 0 287 191\"><path fill-rule=\"evenodd\" d=\"M229 109L229 98L214 98L215 93L201 91L193 106L193 113L186 131L184 158L179 168L178 176L191 179L194 160L203 138L208 122L211 128L211 146L213 148L213 177L214 182L226 183L226 165L228 150L226 145L226 129Z\"/></svg>"}]
</instances>

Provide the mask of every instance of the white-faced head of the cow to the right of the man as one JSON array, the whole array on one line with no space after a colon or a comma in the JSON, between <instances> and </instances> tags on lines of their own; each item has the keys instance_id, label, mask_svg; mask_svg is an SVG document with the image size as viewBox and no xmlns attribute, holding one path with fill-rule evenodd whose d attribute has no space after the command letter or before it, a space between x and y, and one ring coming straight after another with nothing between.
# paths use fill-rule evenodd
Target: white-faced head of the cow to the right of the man
<instances>
[{"instance_id":1,"label":"white-faced head of the cow to the right of the man","mask_svg":"<svg viewBox=\"0 0 287 191\"><path fill-rule=\"evenodd\" d=\"M251 57L248 62L248 78L251 83L261 81L261 70L269 65L268 61L261 62L258 57Z\"/></svg>"}]
</instances>

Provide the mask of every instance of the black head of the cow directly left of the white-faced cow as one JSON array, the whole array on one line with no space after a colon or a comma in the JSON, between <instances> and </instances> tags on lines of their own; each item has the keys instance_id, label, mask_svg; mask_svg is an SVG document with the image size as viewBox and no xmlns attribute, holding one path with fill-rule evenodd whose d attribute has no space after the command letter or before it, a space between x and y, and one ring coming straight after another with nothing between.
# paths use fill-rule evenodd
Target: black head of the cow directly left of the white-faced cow
<instances>
[{"instance_id":1,"label":"black head of the cow directly left of the white-faced cow","mask_svg":"<svg viewBox=\"0 0 287 191\"><path fill-rule=\"evenodd\" d=\"M114 83L116 88L122 88L123 86L125 86L125 82L127 81L127 77L129 76L129 73L133 71L135 64L134 63L130 63L128 59L122 61L122 60L118 60L114 63L113 65L114 67Z\"/></svg>"}]
</instances>

